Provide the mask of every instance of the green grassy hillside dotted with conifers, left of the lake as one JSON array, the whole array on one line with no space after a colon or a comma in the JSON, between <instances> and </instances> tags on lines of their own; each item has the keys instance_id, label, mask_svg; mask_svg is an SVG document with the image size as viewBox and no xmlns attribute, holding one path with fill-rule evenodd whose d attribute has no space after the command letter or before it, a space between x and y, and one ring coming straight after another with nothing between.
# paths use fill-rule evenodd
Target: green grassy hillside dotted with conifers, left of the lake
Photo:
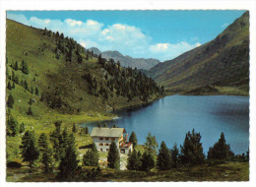
<instances>
[{"instance_id":1,"label":"green grassy hillside dotted with conifers, left of the lake","mask_svg":"<svg viewBox=\"0 0 256 187\"><path fill-rule=\"evenodd\" d=\"M52 131L57 120L71 129L73 123L111 119L115 115L110 110L162 96L152 79L139 71L118 68L114 62L101 65L92 53L60 33L11 20L7 20L6 33L6 86L16 82L14 89L6 89L7 98L10 94L14 98L13 108L7 107L7 119L12 115L37 135ZM24 73L22 62L28 64L29 74ZM28 115L29 107L32 115ZM21 159L21 137L19 133L7 136L8 160ZM80 135L76 138L81 144L88 140Z\"/></svg>"}]
</instances>

